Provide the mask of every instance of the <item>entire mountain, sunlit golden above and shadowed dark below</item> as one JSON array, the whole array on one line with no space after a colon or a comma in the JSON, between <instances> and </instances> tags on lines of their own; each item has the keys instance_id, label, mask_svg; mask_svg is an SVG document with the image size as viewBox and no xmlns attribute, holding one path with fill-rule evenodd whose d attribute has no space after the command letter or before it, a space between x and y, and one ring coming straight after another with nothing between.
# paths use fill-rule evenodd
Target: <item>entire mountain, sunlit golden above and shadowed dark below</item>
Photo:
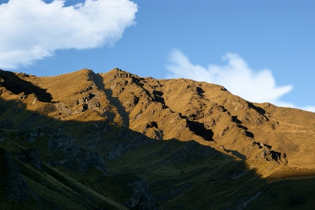
<instances>
[{"instance_id":1,"label":"entire mountain, sunlit golden above and shadowed dark below","mask_svg":"<svg viewBox=\"0 0 315 210\"><path fill-rule=\"evenodd\" d=\"M315 209L315 113L119 69L0 70L1 209Z\"/></svg>"}]
</instances>

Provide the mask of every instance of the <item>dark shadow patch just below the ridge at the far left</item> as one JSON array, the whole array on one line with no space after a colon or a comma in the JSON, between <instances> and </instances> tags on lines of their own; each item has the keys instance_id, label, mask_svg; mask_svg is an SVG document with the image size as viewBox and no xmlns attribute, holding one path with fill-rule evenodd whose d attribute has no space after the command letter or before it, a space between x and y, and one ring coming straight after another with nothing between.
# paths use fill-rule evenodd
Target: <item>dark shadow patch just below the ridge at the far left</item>
<instances>
[{"instance_id":1,"label":"dark shadow patch just below the ridge at the far left","mask_svg":"<svg viewBox=\"0 0 315 210\"><path fill-rule=\"evenodd\" d=\"M22 77L30 77L28 74L20 75ZM15 95L20 93L25 93L26 95L34 93L41 102L53 103L51 101L53 97L51 96L51 93L47 93L46 89L40 88L29 81L20 79L20 77L16 76L13 72L0 70L0 77L1 86L6 88L8 91L11 91Z\"/></svg>"}]
</instances>

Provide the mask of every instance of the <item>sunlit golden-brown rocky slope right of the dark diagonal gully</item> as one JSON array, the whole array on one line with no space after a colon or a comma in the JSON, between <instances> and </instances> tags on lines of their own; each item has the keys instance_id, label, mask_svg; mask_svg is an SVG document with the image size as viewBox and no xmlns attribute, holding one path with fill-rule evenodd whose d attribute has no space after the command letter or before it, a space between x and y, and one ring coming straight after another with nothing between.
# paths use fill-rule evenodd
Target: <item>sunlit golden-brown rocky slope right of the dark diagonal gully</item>
<instances>
[{"instance_id":1,"label":"sunlit golden-brown rocky slope right of the dark diagonal gully","mask_svg":"<svg viewBox=\"0 0 315 210\"><path fill-rule=\"evenodd\" d=\"M195 140L245 160L262 177L292 167L315 170L315 155L306 149L315 149L314 113L250 103L222 86L190 79L142 78L118 69L100 75L110 105L117 107L119 100L123 106L116 119L134 131L160 140ZM303 162L297 158L301 152L309 157Z\"/></svg>"}]
</instances>

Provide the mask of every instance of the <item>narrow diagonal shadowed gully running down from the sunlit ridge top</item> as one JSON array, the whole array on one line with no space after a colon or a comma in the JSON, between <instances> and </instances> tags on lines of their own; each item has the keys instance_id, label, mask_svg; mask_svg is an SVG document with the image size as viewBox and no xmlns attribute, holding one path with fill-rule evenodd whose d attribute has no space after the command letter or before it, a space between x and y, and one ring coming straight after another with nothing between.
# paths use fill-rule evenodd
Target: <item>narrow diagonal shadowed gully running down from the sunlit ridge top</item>
<instances>
[{"instance_id":1,"label":"narrow diagonal shadowed gully running down from the sunlit ridge top","mask_svg":"<svg viewBox=\"0 0 315 210\"><path fill-rule=\"evenodd\" d=\"M124 126L129 127L129 113L126 111L122 103L118 97L113 97L113 91L111 89L105 88L105 84L103 82L103 77L100 74L96 74L94 72L90 72L90 76L94 79L94 83L96 84L97 88L103 91L110 101L110 105L113 105L117 108L118 113L122 117L122 122Z\"/></svg>"}]
</instances>

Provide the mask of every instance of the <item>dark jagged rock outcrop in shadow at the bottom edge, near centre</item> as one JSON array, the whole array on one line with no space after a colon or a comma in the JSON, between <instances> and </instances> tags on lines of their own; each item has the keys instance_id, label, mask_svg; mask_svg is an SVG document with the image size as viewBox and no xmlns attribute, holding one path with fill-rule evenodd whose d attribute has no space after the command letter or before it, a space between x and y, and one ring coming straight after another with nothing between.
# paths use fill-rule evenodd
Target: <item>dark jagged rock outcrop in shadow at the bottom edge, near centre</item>
<instances>
[{"instance_id":1,"label":"dark jagged rock outcrop in shadow at the bottom edge, near centre","mask_svg":"<svg viewBox=\"0 0 315 210\"><path fill-rule=\"evenodd\" d=\"M124 202L125 206L130 209L158 210L150 185L148 185L146 179L141 178L139 181L129 183L129 186L134 188L134 193Z\"/></svg>"}]
</instances>

